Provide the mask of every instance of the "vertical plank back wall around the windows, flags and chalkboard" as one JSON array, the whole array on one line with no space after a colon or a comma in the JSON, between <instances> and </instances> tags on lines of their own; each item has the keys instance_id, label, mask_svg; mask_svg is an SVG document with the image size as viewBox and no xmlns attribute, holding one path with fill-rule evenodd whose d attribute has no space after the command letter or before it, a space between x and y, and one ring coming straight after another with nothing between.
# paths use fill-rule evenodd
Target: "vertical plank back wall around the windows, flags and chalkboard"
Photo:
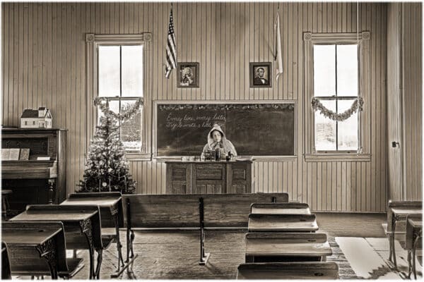
<instances>
[{"instance_id":1,"label":"vertical plank back wall around the windows, flags and chalkboard","mask_svg":"<svg viewBox=\"0 0 424 282\"><path fill-rule=\"evenodd\" d=\"M284 74L269 89L250 89L250 61L272 61L273 18L280 8ZM387 202L386 4L176 3L179 61L199 61L200 88L177 88L163 77L169 4L3 4L3 124L18 125L25 108L52 109L54 126L68 128L67 190L82 176L88 147L86 33L152 32L152 69L146 94L148 145L153 99L298 100L298 152L290 161L256 161L254 191L290 193L315 211L384 211ZM371 32L371 161L303 159L302 32ZM307 102L309 103L309 102ZM86 114L88 112L88 114ZM137 192L165 192L165 164L131 161Z\"/></svg>"}]
</instances>

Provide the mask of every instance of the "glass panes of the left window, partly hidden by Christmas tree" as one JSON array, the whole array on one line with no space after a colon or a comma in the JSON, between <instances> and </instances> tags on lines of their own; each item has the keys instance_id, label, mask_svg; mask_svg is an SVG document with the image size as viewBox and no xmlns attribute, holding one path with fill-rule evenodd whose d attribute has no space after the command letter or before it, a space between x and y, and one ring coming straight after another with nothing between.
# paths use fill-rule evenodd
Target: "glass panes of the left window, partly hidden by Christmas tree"
<instances>
[{"instance_id":1,"label":"glass panes of the left window, partly hidden by Christmas tree","mask_svg":"<svg viewBox=\"0 0 424 282\"><path fill-rule=\"evenodd\" d=\"M143 98L143 44L98 44L97 59L98 96L108 99L112 111L124 112ZM119 135L126 152L141 152L141 108L120 124Z\"/></svg>"}]
</instances>

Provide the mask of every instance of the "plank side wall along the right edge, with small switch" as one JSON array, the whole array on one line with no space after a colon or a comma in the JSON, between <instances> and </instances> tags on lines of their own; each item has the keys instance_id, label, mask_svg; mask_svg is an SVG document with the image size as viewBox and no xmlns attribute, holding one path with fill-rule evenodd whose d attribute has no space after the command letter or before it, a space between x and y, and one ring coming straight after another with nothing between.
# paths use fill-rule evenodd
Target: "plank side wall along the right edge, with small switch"
<instances>
[{"instance_id":1,"label":"plank side wall along the right edge, with small switch","mask_svg":"<svg viewBox=\"0 0 424 282\"><path fill-rule=\"evenodd\" d=\"M421 9L420 3L387 8L387 130L389 143L401 143L400 149L389 145L389 175L396 176L389 178L389 199L394 200L423 197Z\"/></svg>"}]
</instances>

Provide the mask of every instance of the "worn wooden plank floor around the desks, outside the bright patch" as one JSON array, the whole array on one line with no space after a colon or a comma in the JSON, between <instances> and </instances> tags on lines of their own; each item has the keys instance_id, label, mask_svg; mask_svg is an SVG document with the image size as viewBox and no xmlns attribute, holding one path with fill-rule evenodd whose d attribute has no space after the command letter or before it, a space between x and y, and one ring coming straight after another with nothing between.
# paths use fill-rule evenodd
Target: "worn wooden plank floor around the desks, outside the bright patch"
<instances>
[{"instance_id":1,"label":"worn wooden plank floor around the desks, outside the bright patch","mask_svg":"<svg viewBox=\"0 0 424 282\"><path fill-rule=\"evenodd\" d=\"M320 232L329 236L334 255L328 261L338 263L341 278L356 278L355 272L338 247L335 237L384 237L384 214L317 214ZM125 238L122 233L121 238ZM199 232L136 232L136 258L133 271L120 278L138 279L234 279L237 265L245 261L245 231L206 231L206 250L211 258L199 266ZM100 278L108 279L117 259L116 245L103 253ZM124 248L125 253L125 248ZM79 252L78 257L87 252ZM88 266L74 278L85 279Z\"/></svg>"}]
</instances>

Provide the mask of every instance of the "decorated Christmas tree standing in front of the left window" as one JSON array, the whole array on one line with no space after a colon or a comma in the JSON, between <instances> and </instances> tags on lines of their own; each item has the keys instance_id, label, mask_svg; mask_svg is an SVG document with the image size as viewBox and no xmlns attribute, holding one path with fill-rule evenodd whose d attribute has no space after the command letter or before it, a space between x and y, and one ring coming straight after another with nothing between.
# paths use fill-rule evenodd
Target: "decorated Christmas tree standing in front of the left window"
<instances>
[{"instance_id":1,"label":"decorated Christmas tree standing in front of the left window","mask_svg":"<svg viewBox=\"0 0 424 282\"><path fill-rule=\"evenodd\" d=\"M122 192L132 193L136 183L129 173L124 148L119 138L119 124L136 114L139 102L123 114L110 111L107 100L95 99L103 113L96 127L93 140L86 155L83 180L77 192Z\"/></svg>"}]
</instances>

